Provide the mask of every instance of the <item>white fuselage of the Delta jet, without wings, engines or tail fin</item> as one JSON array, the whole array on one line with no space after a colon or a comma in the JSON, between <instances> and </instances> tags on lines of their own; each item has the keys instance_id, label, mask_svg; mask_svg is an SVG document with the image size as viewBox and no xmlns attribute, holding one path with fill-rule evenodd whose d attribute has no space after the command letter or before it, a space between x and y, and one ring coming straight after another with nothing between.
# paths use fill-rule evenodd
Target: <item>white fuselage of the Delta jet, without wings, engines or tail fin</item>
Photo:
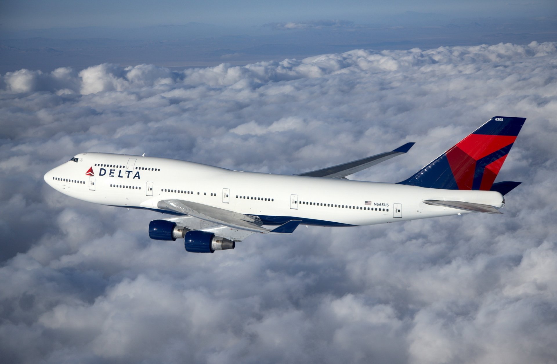
<instances>
[{"instance_id":1,"label":"white fuselage of the Delta jet, without wings, engines or tail fin","mask_svg":"<svg viewBox=\"0 0 557 364\"><path fill-rule=\"evenodd\" d=\"M167 158L82 153L45 174L56 190L102 205L158 209L184 200L259 216L265 225L294 219L319 226L358 226L468 213L431 206L449 200L501 207L495 191L439 190L396 183L230 171ZM86 175L89 169L92 173Z\"/></svg>"}]
</instances>

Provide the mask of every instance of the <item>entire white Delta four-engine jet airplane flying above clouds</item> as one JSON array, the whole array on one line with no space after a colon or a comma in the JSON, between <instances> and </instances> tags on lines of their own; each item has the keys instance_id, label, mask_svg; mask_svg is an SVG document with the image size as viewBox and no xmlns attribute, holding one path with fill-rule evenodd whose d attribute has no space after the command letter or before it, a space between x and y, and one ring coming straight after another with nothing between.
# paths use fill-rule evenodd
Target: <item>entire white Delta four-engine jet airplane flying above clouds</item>
<instances>
[{"instance_id":1,"label":"entire white Delta four-engine jet airplane flying above clouds","mask_svg":"<svg viewBox=\"0 0 557 364\"><path fill-rule=\"evenodd\" d=\"M234 249L252 234L292 234L301 225L364 226L464 213L501 213L521 182L495 182L526 118L494 117L398 183L350 174L407 153L393 151L316 171L232 171L207 164L112 153L81 153L51 169L55 190L101 205L163 212L155 240L183 239L191 253ZM74 164L75 163L75 164Z\"/></svg>"}]
</instances>

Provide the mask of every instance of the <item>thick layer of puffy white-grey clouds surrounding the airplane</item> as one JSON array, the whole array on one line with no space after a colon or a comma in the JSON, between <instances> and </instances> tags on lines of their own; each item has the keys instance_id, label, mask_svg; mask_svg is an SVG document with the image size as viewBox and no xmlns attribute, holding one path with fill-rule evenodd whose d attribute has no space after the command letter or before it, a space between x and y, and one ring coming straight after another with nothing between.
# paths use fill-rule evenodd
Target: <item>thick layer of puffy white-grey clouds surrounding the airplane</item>
<instances>
[{"instance_id":1,"label":"thick layer of puffy white-grey clouds surrounding the airplane","mask_svg":"<svg viewBox=\"0 0 557 364\"><path fill-rule=\"evenodd\" d=\"M0 356L553 361L556 46L2 75ZM528 118L498 178L524 182L502 216L300 227L196 255L149 239L156 213L73 200L42 180L86 151L288 174L417 142L356 176L398 182L495 115Z\"/></svg>"}]
</instances>

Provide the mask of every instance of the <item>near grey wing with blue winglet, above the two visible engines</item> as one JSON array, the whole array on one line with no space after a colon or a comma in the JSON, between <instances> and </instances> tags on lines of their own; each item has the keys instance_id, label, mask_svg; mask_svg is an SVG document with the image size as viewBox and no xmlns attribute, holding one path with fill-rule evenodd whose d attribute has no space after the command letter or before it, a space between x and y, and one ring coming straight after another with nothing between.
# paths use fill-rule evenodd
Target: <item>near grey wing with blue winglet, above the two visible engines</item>
<instances>
[{"instance_id":1,"label":"near grey wing with blue winglet, above the two visible engines","mask_svg":"<svg viewBox=\"0 0 557 364\"><path fill-rule=\"evenodd\" d=\"M243 213L224 210L223 208L203 205L203 203L184 200L162 200L159 201L157 205L162 210L183 213L184 215L194 216L198 219L232 227L233 229L260 232L263 234L291 234L301 222L301 220L290 220L270 230L262 226L263 223L257 216L245 215Z\"/></svg>"}]
</instances>

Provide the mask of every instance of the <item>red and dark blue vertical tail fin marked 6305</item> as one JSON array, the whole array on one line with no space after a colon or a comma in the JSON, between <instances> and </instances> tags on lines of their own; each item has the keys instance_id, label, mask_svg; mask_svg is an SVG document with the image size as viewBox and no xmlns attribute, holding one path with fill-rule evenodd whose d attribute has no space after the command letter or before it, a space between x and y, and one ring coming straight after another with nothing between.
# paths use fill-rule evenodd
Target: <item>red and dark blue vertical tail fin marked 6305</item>
<instances>
[{"instance_id":1,"label":"red and dark blue vertical tail fin marked 6305","mask_svg":"<svg viewBox=\"0 0 557 364\"><path fill-rule=\"evenodd\" d=\"M494 117L401 185L490 190L526 118Z\"/></svg>"}]
</instances>

